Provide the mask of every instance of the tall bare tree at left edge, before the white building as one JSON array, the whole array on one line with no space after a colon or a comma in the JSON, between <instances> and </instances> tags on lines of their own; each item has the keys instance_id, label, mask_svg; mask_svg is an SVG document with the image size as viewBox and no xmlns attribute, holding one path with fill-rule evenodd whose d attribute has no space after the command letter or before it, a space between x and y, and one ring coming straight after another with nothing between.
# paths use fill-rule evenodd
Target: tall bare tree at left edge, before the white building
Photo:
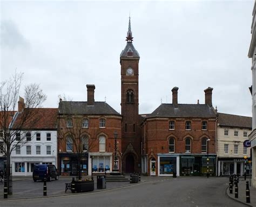
<instances>
[{"instance_id":1,"label":"tall bare tree at left edge, before the white building","mask_svg":"<svg viewBox=\"0 0 256 207\"><path fill-rule=\"evenodd\" d=\"M16 146L22 146L26 139L22 136L25 130L33 128L37 120L33 119L36 113L32 108L40 107L46 100L46 95L37 84L25 86L25 103L23 98L19 98L21 107L17 110L17 101L22 84L23 73L15 72L11 78L1 83L1 112L0 130L3 142L3 153L6 159L6 179L8 183L8 193L11 189L11 163L10 156Z\"/></svg>"}]
</instances>

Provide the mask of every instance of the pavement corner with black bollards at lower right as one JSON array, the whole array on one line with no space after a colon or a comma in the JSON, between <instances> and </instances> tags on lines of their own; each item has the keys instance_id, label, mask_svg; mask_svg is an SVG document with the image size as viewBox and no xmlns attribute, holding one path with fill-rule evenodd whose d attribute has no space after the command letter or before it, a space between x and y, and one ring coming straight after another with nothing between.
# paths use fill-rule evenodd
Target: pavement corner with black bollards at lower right
<instances>
[{"instance_id":1,"label":"pavement corner with black bollards at lower right","mask_svg":"<svg viewBox=\"0 0 256 207\"><path fill-rule=\"evenodd\" d=\"M229 179L229 178L227 178ZM248 179L246 181L249 181ZM233 193L230 194L230 188L228 187L226 190L226 193L228 197L231 199L234 199L237 202L243 203L247 206L255 206L256 207L256 188L250 187L250 203L246 203L246 181L244 180L244 177L239 177L239 183L238 183L238 198L235 198L235 187L233 186ZM250 183L250 181L249 181Z\"/></svg>"}]
</instances>

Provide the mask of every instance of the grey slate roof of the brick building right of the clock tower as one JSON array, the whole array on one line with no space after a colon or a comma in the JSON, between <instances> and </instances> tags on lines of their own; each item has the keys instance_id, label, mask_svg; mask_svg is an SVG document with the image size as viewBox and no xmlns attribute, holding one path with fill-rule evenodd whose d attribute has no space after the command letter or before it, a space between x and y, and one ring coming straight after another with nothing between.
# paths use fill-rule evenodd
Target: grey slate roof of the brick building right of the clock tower
<instances>
[{"instance_id":1,"label":"grey slate roof of the brick building right of the clock tower","mask_svg":"<svg viewBox=\"0 0 256 207\"><path fill-rule=\"evenodd\" d=\"M162 103L146 116L152 117L215 118L216 115L213 108L205 104L178 104L178 107L174 108L172 103Z\"/></svg>"}]
</instances>

